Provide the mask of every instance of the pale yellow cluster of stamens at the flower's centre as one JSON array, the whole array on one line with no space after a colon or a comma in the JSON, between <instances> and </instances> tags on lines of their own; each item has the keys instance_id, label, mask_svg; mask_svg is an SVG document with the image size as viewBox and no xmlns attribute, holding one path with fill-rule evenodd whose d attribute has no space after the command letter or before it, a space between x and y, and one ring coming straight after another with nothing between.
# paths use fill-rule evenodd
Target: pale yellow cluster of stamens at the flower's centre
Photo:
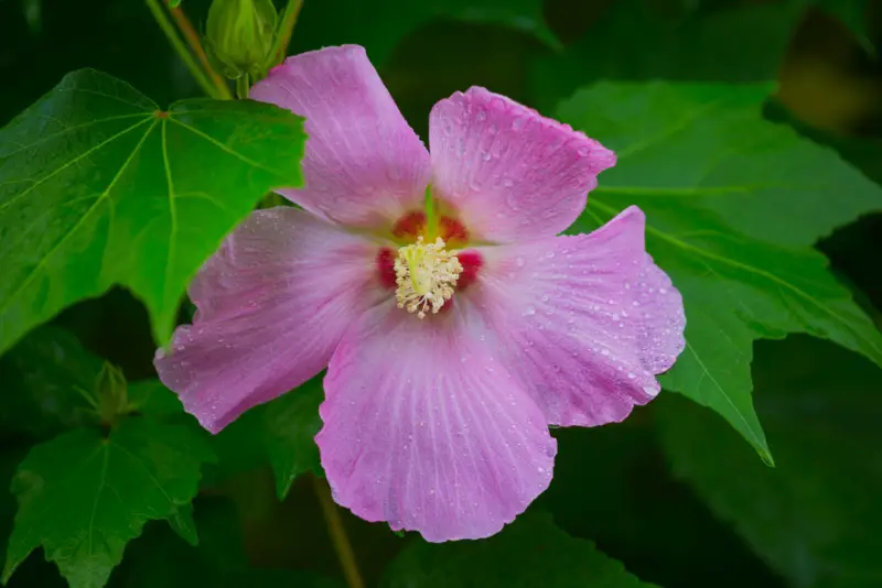
<instances>
[{"instance_id":1,"label":"pale yellow cluster of stamens at the flower's centre","mask_svg":"<svg viewBox=\"0 0 882 588\"><path fill-rule=\"evenodd\" d=\"M431 311L438 314L453 296L453 286L462 273L456 251L447 251L440 237L434 243L417 242L398 249L395 260L395 297L398 307L426 318Z\"/></svg>"}]
</instances>

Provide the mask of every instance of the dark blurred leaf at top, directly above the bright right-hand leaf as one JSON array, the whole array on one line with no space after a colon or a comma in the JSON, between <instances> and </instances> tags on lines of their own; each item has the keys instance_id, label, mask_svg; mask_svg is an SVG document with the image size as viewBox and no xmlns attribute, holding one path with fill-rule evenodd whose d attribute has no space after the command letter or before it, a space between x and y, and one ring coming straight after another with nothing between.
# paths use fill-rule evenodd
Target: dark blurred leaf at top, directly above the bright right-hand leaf
<instances>
[{"instance_id":1,"label":"dark blurred leaf at top, directly above the bright right-hand leaf","mask_svg":"<svg viewBox=\"0 0 882 588\"><path fill-rule=\"evenodd\" d=\"M771 81L802 12L775 3L671 14L660 2L616 0L566 55L537 59L536 100L550 109L599 79Z\"/></svg>"}]
</instances>

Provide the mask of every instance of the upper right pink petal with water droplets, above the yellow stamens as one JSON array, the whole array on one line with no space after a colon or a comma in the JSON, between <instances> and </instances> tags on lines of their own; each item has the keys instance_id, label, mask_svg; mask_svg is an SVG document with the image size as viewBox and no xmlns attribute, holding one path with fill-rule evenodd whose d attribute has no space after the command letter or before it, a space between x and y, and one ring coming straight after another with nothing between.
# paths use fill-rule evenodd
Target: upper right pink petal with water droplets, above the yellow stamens
<instances>
[{"instance_id":1,"label":"upper right pink petal with water droplets, above the yellow stamens","mask_svg":"<svg viewBox=\"0 0 882 588\"><path fill-rule=\"evenodd\" d=\"M585 207L615 154L569 126L473 87L438 102L429 121L432 193L478 239L551 237Z\"/></svg>"}]
</instances>

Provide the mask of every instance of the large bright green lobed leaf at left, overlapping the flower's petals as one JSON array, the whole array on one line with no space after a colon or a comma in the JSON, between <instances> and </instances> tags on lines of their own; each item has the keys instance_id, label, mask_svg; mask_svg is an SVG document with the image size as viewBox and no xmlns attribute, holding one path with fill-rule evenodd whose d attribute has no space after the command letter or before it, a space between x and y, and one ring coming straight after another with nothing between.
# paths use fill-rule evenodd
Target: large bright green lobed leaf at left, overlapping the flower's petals
<instances>
[{"instance_id":1,"label":"large bright green lobed leaf at left, overlapping the flower's petals","mask_svg":"<svg viewBox=\"0 0 882 588\"><path fill-rule=\"evenodd\" d=\"M302 119L207 99L162 111L95 70L0 130L0 352L65 306L130 287L155 338L184 287L271 188L302 183Z\"/></svg>"}]
</instances>

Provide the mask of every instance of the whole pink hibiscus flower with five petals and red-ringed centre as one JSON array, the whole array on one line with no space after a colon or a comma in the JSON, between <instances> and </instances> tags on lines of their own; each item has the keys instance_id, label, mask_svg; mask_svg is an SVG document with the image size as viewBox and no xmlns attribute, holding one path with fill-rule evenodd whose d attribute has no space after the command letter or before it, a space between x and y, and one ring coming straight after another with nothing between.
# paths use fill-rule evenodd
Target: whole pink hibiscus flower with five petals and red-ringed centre
<instances>
[{"instance_id":1,"label":"whole pink hibiscus flower with five petals and red-ringed centre","mask_svg":"<svg viewBox=\"0 0 882 588\"><path fill-rule=\"evenodd\" d=\"M430 154L357 46L291 57L251 97L306 118L305 187L227 238L157 355L205 428L327 368L335 500L438 542L492 535L548 487L549 424L658 393L685 318L643 213L557 236L611 151L472 88L432 109Z\"/></svg>"}]
</instances>

